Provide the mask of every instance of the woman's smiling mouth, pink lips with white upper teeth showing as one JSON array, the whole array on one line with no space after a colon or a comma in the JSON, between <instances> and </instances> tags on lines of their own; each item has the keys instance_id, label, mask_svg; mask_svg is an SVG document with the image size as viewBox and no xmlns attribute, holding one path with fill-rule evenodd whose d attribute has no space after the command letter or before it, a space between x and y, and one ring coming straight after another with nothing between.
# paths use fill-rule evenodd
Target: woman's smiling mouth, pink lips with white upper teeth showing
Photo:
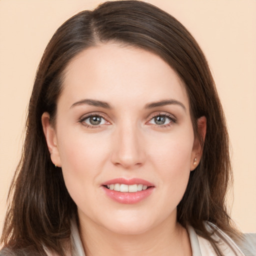
<instances>
[{"instance_id":1,"label":"woman's smiling mouth, pink lips with white upper teeth showing","mask_svg":"<svg viewBox=\"0 0 256 256\"><path fill-rule=\"evenodd\" d=\"M140 178L115 178L104 182L102 188L111 199L119 203L132 204L148 197L154 185Z\"/></svg>"}]
</instances>

